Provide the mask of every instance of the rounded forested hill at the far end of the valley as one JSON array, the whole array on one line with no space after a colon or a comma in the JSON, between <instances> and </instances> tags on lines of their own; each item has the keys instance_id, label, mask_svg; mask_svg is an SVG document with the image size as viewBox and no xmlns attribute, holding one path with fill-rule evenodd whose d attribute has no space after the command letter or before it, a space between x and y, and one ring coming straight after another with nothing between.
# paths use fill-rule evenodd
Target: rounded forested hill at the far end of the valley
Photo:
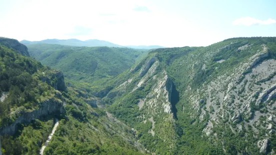
<instances>
[{"instance_id":1,"label":"rounded forested hill at the far end of the valley","mask_svg":"<svg viewBox=\"0 0 276 155\"><path fill-rule=\"evenodd\" d=\"M64 72L77 85L94 87L132 66L147 50L111 47L74 47L58 44L30 44L31 56L42 64ZM77 83L78 82L78 83ZM98 84L100 82L100 84ZM88 84L90 83L90 84ZM89 85L89 86L88 86Z\"/></svg>"}]
</instances>

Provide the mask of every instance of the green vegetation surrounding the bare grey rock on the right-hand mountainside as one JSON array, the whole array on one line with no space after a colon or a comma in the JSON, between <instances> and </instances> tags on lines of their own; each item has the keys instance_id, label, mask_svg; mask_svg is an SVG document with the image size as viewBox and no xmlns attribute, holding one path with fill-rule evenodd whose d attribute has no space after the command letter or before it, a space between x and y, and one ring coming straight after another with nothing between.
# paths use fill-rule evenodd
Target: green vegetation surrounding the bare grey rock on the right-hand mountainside
<instances>
[{"instance_id":1,"label":"green vegetation surrounding the bare grey rock on the right-hand mountainside","mask_svg":"<svg viewBox=\"0 0 276 155\"><path fill-rule=\"evenodd\" d=\"M146 108L139 110L137 106L139 99L146 97L147 94L152 91L150 88L155 82L152 79L146 81L138 90L132 91L141 77L136 78L135 73L130 73L130 71L124 73L121 83L132 77L134 77L134 79L122 92L120 90L118 91L117 88L112 90L112 92L118 91L118 96L112 100L107 100L107 102L113 103L108 110L126 124L137 129L139 140L150 151L156 152L157 154L237 154L244 152L245 147L249 154L259 152L259 148L254 146L257 139L253 137L253 134L245 135L244 133L250 132L249 130L233 135L229 125L226 123L225 125L217 126L212 129L213 133L217 134L215 137L208 137L203 134L202 130L206 126L209 114L207 114L203 120L199 121L198 116L200 112L194 111L193 105L189 103L190 101L187 100L187 98L196 93L195 91L202 86L202 83L207 84L214 78L226 72L231 72L235 67L240 65L240 63L244 63L244 61L257 51L263 50L262 44L266 44L269 48L270 56L268 58L273 58L276 48L271 42L276 42L275 38L232 38L207 47L160 48L150 51L148 57L157 57L161 62L160 66L157 68L157 72L160 73L165 69L169 78L175 83L176 89L180 94L180 100L176 104L177 119L170 127L172 130L167 130L165 133L158 132L156 127L155 131L157 133L155 133L155 136L149 134L148 131L151 128L151 124L144 124L143 120L145 119L141 117L141 115L144 115L148 111L144 111ZM243 45L248 46L242 50L239 49L239 47ZM146 59L148 58L143 59L141 63L145 64ZM224 61L218 62L219 60ZM137 67L141 67L142 64L138 64ZM245 74L250 73L250 71L251 70L244 72L243 78ZM271 77L269 76L269 78ZM240 81L242 80L243 79L240 79ZM244 85L241 87L240 93L244 91ZM187 91L187 87L189 86L191 90L189 89ZM204 99L199 107L205 108L206 98L203 94L201 95L201 98ZM214 107L210 106L210 112L213 111ZM163 116L159 113L158 116L156 115L157 114L153 114L153 116L155 116L155 125L158 126L159 124L160 126L164 126L166 122L164 119L160 119ZM229 117L229 115L227 117ZM224 122L227 122L227 120L225 119ZM215 122L213 124L215 124ZM226 131L225 128L227 128ZM165 146L168 146L170 143L169 138L164 138L165 134L177 139L176 142L173 143L173 149ZM162 139L166 142L163 142L161 139L159 140L156 135L158 138L163 137ZM154 145L152 145L152 143L154 143Z\"/></svg>"}]
</instances>

